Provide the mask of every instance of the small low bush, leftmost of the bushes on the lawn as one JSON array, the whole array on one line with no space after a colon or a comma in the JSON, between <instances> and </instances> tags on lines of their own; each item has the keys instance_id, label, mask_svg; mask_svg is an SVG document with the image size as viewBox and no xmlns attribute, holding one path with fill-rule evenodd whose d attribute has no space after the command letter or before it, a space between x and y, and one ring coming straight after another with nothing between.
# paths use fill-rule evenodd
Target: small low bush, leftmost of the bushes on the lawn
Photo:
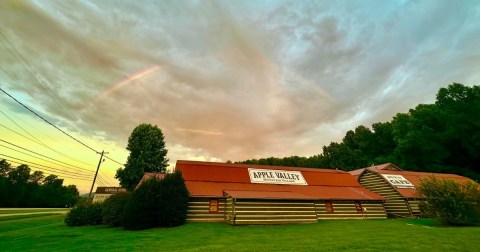
<instances>
[{"instance_id":1,"label":"small low bush, leftmost of the bushes on the lawn","mask_svg":"<svg viewBox=\"0 0 480 252\"><path fill-rule=\"evenodd\" d=\"M102 204L78 202L65 217L68 226L93 226L102 223Z\"/></svg>"}]
</instances>

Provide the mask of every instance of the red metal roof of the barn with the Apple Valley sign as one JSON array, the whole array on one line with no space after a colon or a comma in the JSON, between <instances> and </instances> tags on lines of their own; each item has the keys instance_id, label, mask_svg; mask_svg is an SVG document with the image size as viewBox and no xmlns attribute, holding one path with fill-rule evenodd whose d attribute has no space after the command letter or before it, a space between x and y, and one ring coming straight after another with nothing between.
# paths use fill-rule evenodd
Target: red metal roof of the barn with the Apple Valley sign
<instances>
[{"instance_id":1,"label":"red metal roof of the barn with the Apple Valley sign","mask_svg":"<svg viewBox=\"0 0 480 252\"><path fill-rule=\"evenodd\" d=\"M308 185L251 183L248 168L299 171ZM190 194L198 197L222 197L224 191L256 191L289 192L291 196L301 194L315 199L384 199L361 187L349 173L336 170L182 160L177 161L176 170L182 172Z\"/></svg>"}]
</instances>

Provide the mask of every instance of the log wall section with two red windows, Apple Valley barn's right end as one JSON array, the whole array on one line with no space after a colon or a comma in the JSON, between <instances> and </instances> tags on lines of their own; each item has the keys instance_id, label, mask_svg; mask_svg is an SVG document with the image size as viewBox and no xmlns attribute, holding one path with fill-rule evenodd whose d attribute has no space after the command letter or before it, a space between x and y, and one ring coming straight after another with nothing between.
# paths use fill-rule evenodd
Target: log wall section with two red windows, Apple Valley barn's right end
<instances>
[{"instance_id":1,"label":"log wall section with two red windows, Apple Valley barn's right end","mask_svg":"<svg viewBox=\"0 0 480 252\"><path fill-rule=\"evenodd\" d=\"M386 219L382 201L317 201L317 219Z\"/></svg>"}]
</instances>

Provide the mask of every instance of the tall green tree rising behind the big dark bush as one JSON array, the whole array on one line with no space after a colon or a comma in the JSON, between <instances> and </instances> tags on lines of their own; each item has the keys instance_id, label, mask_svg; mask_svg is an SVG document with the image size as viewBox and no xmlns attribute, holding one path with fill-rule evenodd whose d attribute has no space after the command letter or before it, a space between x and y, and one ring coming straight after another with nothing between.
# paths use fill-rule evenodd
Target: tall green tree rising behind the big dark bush
<instances>
[{"instance_id":1,"label":"tall green tree rising behind the big dark bush","mask_svg":"<svg viewBox=\"0 0 480 252\"><path fill-rule=\"evenodd\" d=\"M140 124L128 138L130 151L125 168L119 168L115 178L120 185L133 190L145 172L165 172L167 149L162 130L156 125Z\"/></svg>"}]
</instances>

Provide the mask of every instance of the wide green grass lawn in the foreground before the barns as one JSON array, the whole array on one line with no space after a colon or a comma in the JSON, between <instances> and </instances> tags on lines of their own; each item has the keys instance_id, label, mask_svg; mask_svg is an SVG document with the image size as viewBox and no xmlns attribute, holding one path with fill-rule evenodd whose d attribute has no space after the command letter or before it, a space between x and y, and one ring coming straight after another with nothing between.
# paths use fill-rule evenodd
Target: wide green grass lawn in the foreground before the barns
<instances>
[{"instance_id":1,"label":"wide green grass lawn in the foreground before the barns","mask_svg":"<svg viewBox=\"0 0 480 252\"><path fill-rule=\"evenodd\" d=\"M479 227L439 227L425 219L235 227L189 223L126 231L107 226L67 227L64 216L0 218L0 250L480 251Z\"/></svg>"}]
</instances>

